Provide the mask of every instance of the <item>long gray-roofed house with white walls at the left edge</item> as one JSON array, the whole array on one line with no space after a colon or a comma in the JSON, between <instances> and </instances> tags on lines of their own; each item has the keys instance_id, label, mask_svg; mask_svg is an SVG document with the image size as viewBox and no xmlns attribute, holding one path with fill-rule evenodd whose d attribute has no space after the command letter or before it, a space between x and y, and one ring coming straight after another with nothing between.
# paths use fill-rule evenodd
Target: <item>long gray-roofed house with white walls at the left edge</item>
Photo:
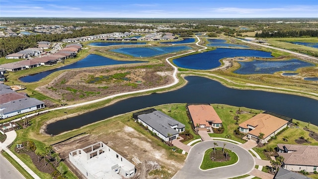
<instances>
[{"instance_id":1,"label":"long gray-roofed house with white walls at the left edge","mask_svg":"<svg viewBox=\"0 0 318 179\"><path fill-rule=\"evenodd\" d=\"M44 102L32 97L24 97L16 100L11 100L0 104L0 119L5 119L18 114L31 112L37 109L42 109L44 107Z\"/></svg>"}]
</instances>

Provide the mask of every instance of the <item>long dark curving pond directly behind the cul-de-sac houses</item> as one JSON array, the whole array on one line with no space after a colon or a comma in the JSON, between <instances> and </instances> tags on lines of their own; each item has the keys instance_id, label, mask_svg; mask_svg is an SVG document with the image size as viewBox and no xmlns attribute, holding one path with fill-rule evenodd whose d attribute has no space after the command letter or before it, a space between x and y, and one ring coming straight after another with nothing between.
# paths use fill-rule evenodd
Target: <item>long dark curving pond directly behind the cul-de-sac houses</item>
<instances>
[{"instance_id":1,"label":"long dark curving pond directly behind the cul-de-sac houses","mask_svg":"<svg viewBox=\"0 0 318 179\"><path fill-rule=\"evenodd\" d=\"M231 89L208 78L185 77L188 83L173 91L130 97L78 116L51 123L47 133L57 135L115 115L169 103L218 103L279 113L318 125L318 100L261 90Z\"/></svg>"}]
</instances>

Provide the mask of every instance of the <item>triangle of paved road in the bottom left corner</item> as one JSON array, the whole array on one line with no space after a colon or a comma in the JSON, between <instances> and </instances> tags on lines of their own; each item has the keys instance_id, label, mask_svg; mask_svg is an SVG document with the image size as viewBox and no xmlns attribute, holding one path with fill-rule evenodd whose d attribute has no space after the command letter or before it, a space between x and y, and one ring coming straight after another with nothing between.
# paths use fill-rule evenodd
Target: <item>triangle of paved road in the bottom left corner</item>
<instances>
[{"instance_id":1,"label":"triangle of paved road in the bottom left corner","mask_svg":"<svg viewBox=\"0 0 318 179\"><path fill-rule=\"evenodd\" d=\"M24 177L0 155L0 179L24 179Z\"/></svg>"}]
</instances>

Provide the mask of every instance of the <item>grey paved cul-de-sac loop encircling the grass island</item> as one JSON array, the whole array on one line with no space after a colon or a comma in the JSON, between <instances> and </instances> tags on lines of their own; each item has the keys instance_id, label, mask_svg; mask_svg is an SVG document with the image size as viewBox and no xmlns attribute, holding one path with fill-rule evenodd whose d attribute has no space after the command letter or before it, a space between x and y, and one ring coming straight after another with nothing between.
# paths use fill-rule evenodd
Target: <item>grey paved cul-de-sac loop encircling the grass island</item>
<instances>
[{"instance_id":1,"label":"grey paved cul-de-sac loop encircling the grass island","mask_svg":"<svg viewBox=\"0 0 318 179\"><path fill-rule=\"evenodd\" d=\"M200 165L205 151L212 148L213 143L217 142L218 146L234 151L239 156L239 162L232 166L211 169L207 171L200 170ZM173 176L172 179L229 179L250 173L254 169L253 156L245 149L233 143L225 141L205 141L193 146L187 156L183 168Z\"/></svg>"}]
</instances>

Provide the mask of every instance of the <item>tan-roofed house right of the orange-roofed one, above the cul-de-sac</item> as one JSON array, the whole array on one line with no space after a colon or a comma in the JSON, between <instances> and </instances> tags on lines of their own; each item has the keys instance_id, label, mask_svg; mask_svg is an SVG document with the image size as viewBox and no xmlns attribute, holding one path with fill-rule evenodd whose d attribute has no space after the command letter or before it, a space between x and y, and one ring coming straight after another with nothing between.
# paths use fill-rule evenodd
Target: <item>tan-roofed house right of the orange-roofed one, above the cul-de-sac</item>
<instances>
[{"instance_id":1,"label":"tan-roofed house right of the orange-roofed one, above the cul-de-sac","mask_svg":"<svg viewBox=\"0 0 318 179\"><path fill-rule=\"evenodd\" d=\"M287 120L270 114L260 113L239 124L239 131L247 133L247 138L254 141L259 141L258 136L260 133L263 133L264 136L261 143L264 144L279 131L287 127L287 124Z\"/></svg>"}]
</instances>

